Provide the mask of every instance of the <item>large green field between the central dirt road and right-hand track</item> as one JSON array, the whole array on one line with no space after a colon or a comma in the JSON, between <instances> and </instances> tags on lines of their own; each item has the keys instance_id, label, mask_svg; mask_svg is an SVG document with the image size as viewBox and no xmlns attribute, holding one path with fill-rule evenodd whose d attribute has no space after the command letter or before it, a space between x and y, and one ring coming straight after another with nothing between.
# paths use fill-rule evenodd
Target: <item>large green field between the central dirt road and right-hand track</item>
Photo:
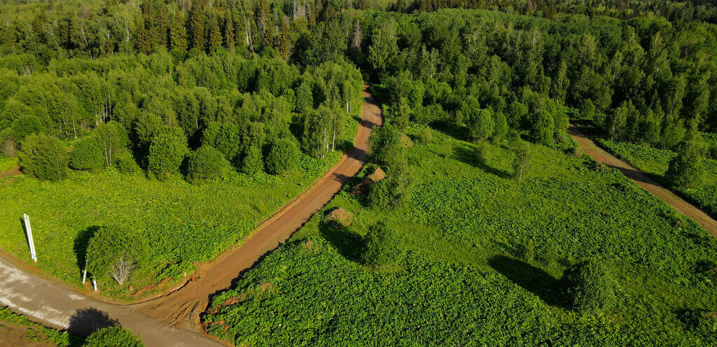
<instances>
[{"instance_id":1,"label":"large green field between the central dirt road and right-hand track","mask_svg":"<svg viewBox=\"0 0 717 347\"><path fill-rule=\"evenodd\" d=\"M414 135L417 130L409 130ZM248 346L706 346L695 324L717 310L717 244L697 224L593 161L531 146L521 184L513 153L432 130L409 149L412 201L385 211L344 189L290 242L214 298L209 332ZM361 264L367 229L402 232L402 270ZM617 273L617 305L570 308L564 271L586 257ZM704 269L708 269L707 271Z\"/></svg>"}]
</instances>

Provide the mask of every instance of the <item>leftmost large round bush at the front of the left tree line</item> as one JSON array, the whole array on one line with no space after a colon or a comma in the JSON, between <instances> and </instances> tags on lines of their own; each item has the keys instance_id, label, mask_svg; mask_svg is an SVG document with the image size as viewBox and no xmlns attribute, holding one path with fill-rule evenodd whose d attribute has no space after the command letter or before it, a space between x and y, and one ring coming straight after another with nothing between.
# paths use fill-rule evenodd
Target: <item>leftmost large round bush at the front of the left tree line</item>
<instances>
[{"instance_id":1,"label":"leftmost large round bush at the front of the left tree line","mask_svg":"<svg viewBox=\"0 0 717 347\"><path fill-rule=\"evenodd\" d=\"M30 135L22 143L20 166L24 172L42 181L60 181L67 177L67 146L44 133Z\"/></svg>"}]
</instances>

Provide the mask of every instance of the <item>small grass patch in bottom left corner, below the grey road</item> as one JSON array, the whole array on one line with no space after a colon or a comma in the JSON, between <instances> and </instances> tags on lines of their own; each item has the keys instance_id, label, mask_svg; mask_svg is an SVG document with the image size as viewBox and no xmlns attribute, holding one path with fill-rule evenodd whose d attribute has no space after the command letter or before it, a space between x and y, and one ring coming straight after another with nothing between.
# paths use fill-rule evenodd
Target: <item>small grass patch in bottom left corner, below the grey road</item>
<instances>
[{"instance_id":1,"label":"small grass patch in bottom left corner, below the grey road","mask_svg":"<svg viewBox=\"0 0 717 347\"><path fill-rule=\"evenodd\" d=\"M12 313L8 308L0 307L0 331L4 325L21 325L27 327L27 341L47 343L48 346L73 347L82 346L84 338L66 331L56 331L29 320L24 315ZM6 341L19 343L19 341ZM8 345L9 346L9 345Z\"/></svg>"}]
</instances>

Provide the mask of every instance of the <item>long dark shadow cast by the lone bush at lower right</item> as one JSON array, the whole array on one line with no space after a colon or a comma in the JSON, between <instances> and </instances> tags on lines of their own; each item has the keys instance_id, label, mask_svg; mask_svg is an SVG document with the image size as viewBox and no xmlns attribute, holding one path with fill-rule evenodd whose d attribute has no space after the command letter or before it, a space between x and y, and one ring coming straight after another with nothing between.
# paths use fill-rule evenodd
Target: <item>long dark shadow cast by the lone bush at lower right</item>
<instances>
[{"instance_id":1,"label":"long dark shadow cast by the lone bush at lower right","mask_svg":"<svg viewBox=\"0 0 717 347\"><path fill-rule=\"evenodd\" d=\"M504 255L490 258L488 265L508 277L516 285L520 285L528 292L537 295L548 305L562 308L570 307L569 298L565 295L565 281L553 277L548 272Z\"/></svg>"}]
</instances>

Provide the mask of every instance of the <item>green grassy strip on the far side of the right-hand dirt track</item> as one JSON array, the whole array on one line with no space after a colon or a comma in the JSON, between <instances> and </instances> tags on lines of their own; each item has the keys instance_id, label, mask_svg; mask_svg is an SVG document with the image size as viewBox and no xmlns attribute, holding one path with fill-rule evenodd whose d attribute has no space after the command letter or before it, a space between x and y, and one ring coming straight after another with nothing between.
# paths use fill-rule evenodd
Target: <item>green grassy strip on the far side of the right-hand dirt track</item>
<instances>
[{"instance_id":1,"label":"green grassy strip on the far side of the right-hand dirt track","mask_svg":"<svg viewBox=\"0 0 717 347\"><path fill-rule=\"evenodd\" d=\"M668 185L664 175L665 171L668 170L670 160L677 156L673 151L640 146L634 143L612 142L604 139L600 139L599 143L602 148L605 148L614 156L627 161L632 166L649 173L657 181ZM690 189L675 187L673 190L708 214L717 216L717 161L706 159L704 166L705 176L701 186Z\"/></svg>"}]
</instances>

